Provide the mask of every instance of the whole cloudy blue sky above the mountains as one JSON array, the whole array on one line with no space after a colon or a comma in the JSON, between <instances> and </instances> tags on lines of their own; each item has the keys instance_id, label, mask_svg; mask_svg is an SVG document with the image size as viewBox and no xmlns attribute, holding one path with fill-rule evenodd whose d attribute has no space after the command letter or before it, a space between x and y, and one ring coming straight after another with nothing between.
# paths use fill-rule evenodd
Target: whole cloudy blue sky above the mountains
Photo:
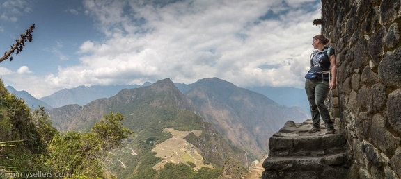
<instances>
[{"instance_id":1,"label":"whole cloudy blue sky above the mountains","mask_svg":"<svg viewBox=\"0 0 401 179\"><path fill-rule=\"evenodd\" d=\"M303 87L320 0L0 0L5 85L40 98L79 85L218 77L239 87Z\"/></svg>"}]
</instances>

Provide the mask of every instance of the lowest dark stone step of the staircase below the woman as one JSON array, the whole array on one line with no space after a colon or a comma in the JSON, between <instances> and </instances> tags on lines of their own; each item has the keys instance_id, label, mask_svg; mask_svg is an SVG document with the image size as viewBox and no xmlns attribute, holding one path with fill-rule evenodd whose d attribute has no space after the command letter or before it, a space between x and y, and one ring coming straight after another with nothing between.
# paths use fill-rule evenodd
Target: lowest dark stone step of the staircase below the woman
<instances>
[{"instance_id":1,"label":"lowest dark stone step of the staircase below the woman","mask_svg":"<svg viewBox=\"0 0 401 179\"><path fill-rule=\"evenodd\" d=\"M333 155L267 157L262 167L265 178L346 178L349 159L345 153Z\"/></svg>"}]
</instances>

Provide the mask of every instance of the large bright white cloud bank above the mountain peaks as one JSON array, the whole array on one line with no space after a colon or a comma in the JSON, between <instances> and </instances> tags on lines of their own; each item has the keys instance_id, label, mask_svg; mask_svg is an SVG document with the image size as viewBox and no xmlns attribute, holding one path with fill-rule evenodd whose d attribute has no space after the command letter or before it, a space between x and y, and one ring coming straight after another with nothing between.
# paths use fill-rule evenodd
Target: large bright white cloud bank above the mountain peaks
<instances>
[{"instance_id":1,"label":"large bright white cloud bank above the mountain peaks","mask_svg":"<svg viewBox=\"0 0 401 179\"><path fill-rule=\"evenodd\" d=\"M46 90L207 77L241 87L304 85L320 1L155 2L84 0L104 38L79 46L79 65L38 81Z\"/></svg>"}]
</instances>

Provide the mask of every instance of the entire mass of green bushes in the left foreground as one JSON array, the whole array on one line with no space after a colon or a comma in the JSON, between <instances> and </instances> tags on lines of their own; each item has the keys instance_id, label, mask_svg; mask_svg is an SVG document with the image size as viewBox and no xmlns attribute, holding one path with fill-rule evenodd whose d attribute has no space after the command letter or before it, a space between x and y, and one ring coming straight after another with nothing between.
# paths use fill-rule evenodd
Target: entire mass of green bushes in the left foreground
<instances>
[{"instance_id":1,"label":"entire mass of green bushes in the left foreground","mask_svg":"<svg viewBox=\"0 0 401 179\"><path fill-rule=\"evenodd\" d=\"M104 170L108 152L132 133L123 127L123 119L111 113L91 132L58 133L43 108L31 112L22 99L8 94L0 80L0 172L6 176L40 171L65 173L67 178L111 178Z\"/></svg>"}]
</instances>

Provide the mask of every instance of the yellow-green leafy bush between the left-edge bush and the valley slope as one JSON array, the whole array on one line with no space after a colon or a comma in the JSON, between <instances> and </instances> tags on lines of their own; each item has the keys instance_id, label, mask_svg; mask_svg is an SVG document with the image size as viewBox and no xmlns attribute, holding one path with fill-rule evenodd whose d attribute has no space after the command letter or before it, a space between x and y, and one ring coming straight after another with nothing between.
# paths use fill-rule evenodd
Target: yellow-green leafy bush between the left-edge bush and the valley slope
<instances>
[{"instance_id":1,"label":"yellow-green leafy bush between the left-edge bush and the valley slope","mask_svg":"<svg viewBox=\"0 0 401 179\"><path fill-rule=\"evenodd\" d=\"M70 173L73 178L104 178L109 150L119 147L132 133L122 125L123 120L122 114L111 112L91 132L56 133L45 155L45 167L53 173Z\"/></svg>"}]
</instances>

